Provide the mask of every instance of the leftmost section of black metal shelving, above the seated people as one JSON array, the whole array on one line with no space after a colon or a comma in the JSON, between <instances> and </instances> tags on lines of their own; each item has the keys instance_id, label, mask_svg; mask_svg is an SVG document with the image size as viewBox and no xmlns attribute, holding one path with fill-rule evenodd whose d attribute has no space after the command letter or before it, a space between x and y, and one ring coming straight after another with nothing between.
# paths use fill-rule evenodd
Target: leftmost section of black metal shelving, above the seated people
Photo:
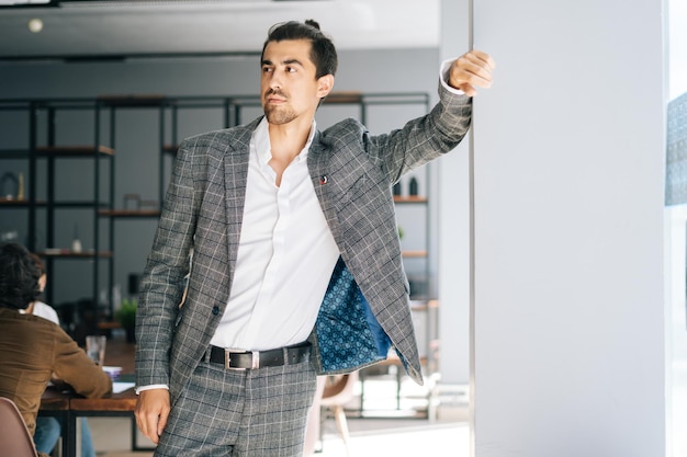
<instances>
[{"instance_id":1,"label":"leftmost section of black metal shelving, above the seated people","mask_svg":"<svg viewBox=\"0 0 687 457\"><path fill-rule=\"evenodd\" d=\"M92 140L82 142L58 141L60 133L60 116L66 113L83 113L92 123ZM0 113L12 113L23 117L27 124L26 138L22 146L9 146L0 140L0 160L13 160L14 167L23 170L26 188L18 191L19 195L4 195L0 198L0 209L21 208L25 218L25 237L18 241L45 259L48 271L55 262L63 260L92 262L90 297L94 319L98 316L98 278L101 259L112 256L109 250L100 250L100 227L97 213L109 207L109 196L100 192L103 161L111 162L114 149L101 145L100 112L93 100L86 99L44 99L44 100L0 100ZM11 137L9 133L4 138ZM80 195L72 198L57 197L57 187L60 185L60 173L57 164L65 159L92 162L93 185L90 190L82 190ZM40 167L41 165L41 167ZM111 164L110 164L111 167ZM40 170L41 168L41 170ZM3 175L11 175L5 171ZM23 180L22 180L23 181ZM45 182L44 188L38 190L38 182ZM60 217L64 210L83 210L90 213L90 227L93 249L72 250L69 247L58 247L56 230L60 225L69 224ZM38 218L38 214L42 217ZM19 219L22 217L20 216ZM41 221L38 221L41 219ZM20 222L19 220L13 220ZM38 231L44 233L45 240L38 243ZM5 240L7 241L7 240ZM42 245L40 245L42 244ZM54 275L48 275L46 300L54 298ZM83 310L88 311L88 310Z\"/></svg>"}]
</instances>

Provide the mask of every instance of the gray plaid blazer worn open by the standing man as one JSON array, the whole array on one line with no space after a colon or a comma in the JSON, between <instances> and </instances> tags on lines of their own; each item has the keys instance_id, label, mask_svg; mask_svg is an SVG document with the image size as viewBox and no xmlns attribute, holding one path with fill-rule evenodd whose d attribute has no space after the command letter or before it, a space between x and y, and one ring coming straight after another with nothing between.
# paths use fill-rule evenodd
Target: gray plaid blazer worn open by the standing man
<instances>
[{"instance_id":1,"label":"gray plaid blazer worn open by the standing man","mask_svg":"<svg viewBox=\"0 0 687 457\"><path fill-rule=\"evenodd\" d=\"M419 384L391 187L404 173L452 150L465 136L471 100L441 84L439 96L429 114L401 129L372 136L359 122L345 119L317 132L308 151L311 179L341 260ZM136 384L169 385L172 401L207 350L227 306L249 142L258 123L198 135L179 148L136 316ZM187 274L188 292L180 307ZM314 354L317 357L319 352Z\"/></svg>"}]
</instances>

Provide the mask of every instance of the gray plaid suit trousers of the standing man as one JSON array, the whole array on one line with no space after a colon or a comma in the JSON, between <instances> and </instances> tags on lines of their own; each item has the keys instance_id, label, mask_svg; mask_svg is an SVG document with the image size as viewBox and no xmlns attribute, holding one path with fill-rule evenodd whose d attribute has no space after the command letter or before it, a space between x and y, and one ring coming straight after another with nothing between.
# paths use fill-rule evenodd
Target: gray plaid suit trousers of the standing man
<instances>
[{"instance_id":1,"label":"gray plaid suit trousers of the standing man","mask_svg":"<svg viewBox=\"0 0 687 457\"><path fill-rule=\"evenodd\" d=\"M248 370L202 362L172 405L156 457L302 457L309 362Z\"/></svg>"}]
</instances>

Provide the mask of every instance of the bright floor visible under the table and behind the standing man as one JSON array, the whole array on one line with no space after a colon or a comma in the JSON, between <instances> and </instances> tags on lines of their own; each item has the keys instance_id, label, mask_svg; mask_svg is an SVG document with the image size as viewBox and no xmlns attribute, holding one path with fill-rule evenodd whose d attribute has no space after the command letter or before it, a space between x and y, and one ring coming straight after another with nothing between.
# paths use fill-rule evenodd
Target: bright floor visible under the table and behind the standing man
<instances>
[{"instance_id":1,"label":"bright floor visible under the table and behind the standing man","mask_svg":"<svg viewBox=\"0 0 687 457\"><path fill-rule=\"evenodd\" d=\"M425 416L427 400L412 381L402 385L396 403L395 382L367 381L364 416L360 414L361 386L347 405L350 441L345 445L333 418L323 420L322 441L314 457L379 457L431 455L466 457L469 427L466 395L460 389L442 397L433 420ZM397 408L399 407L399 408ZM122 418L90 418L89 424L99 457L150 457L151 452L131 450L131 422ZM138 434L139 446L151 443Z\"/></svg>"}]
</instances>

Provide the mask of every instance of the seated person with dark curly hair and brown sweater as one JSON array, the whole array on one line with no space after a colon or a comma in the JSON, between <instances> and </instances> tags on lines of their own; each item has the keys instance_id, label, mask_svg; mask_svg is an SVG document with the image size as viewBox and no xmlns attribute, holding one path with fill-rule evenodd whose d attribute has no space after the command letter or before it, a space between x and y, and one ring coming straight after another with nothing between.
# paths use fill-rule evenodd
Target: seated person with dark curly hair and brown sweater
<instances>
[{"instance_id":1,"label":"seated person with dark curly hair and brown sweater","mask_svg":"<svg viewBox=\"0 0 687 457\"><path fill-rule=\"evenodd\" d=\"M22 313L41 295L41 271L20 244L0 247L0 397L19 408L31 434L41 397L55 376L88 398L112 392L112 380L58 325Z\"/></svg>"}]
</instances>

